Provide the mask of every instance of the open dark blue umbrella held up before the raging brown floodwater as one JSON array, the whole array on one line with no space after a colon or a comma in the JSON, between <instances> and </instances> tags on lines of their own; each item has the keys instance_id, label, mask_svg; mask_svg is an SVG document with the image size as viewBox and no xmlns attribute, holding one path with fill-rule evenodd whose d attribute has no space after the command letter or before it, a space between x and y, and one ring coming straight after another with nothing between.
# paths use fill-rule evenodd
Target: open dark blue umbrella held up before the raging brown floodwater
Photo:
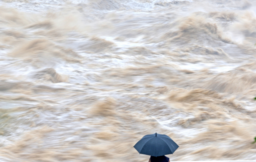
<instances>
[{"instance_id":1,"label":"open dark blue umbrella held up before the raging brown floodwater","mask_svg":"<svg viewBox=\"0 0 256 162\"><path fill-rule=\"evenodd\" d=\"M179 147L169 136L164 134L148 134L133 146L140 154L162 156L173 154Z\"/></svg>"}]
</instances>

